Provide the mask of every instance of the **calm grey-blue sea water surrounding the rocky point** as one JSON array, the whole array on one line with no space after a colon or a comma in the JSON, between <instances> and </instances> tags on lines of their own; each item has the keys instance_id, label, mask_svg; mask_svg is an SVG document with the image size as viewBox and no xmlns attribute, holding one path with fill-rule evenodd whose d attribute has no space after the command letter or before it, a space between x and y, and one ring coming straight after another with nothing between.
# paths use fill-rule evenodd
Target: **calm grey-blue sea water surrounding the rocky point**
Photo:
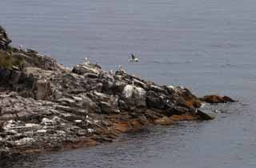
<instances>
[{"instance_id":1,"label":"calm grey-blue sea water surrounding the rocky point","mask_svg":"<svg viewBox=\"0 0 256 168\"><path fill-rule=\"evenodd\" d=\"M217 118L153 126L114 143L39 154L8 168L255 168L255 0L1 0L13 45L66 66L90 58L194 94L239 103L206 106ZM131 53L140 62L128 62Z\"/></svg>"}]
</instances>

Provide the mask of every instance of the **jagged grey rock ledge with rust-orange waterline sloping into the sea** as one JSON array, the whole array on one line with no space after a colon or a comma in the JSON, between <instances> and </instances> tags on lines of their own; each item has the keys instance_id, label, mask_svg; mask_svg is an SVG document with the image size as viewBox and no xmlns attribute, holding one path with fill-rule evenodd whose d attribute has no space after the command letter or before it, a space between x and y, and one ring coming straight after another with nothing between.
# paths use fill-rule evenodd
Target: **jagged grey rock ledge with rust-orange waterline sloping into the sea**
<instances>
[{"instance_id":1,"label":"jagged grey rock ledge with rust-orange waterline sloping into the sea","mask_svg":"<svg viewBox=\"0 0 256 168\"><path fill-rule=\"evenodd\" d=\"M210 97L89 62L69 69L6 38L0 36L0 160L113 142L147 125L212 119L198 110Z\"/></svg>"}]
</instances>

